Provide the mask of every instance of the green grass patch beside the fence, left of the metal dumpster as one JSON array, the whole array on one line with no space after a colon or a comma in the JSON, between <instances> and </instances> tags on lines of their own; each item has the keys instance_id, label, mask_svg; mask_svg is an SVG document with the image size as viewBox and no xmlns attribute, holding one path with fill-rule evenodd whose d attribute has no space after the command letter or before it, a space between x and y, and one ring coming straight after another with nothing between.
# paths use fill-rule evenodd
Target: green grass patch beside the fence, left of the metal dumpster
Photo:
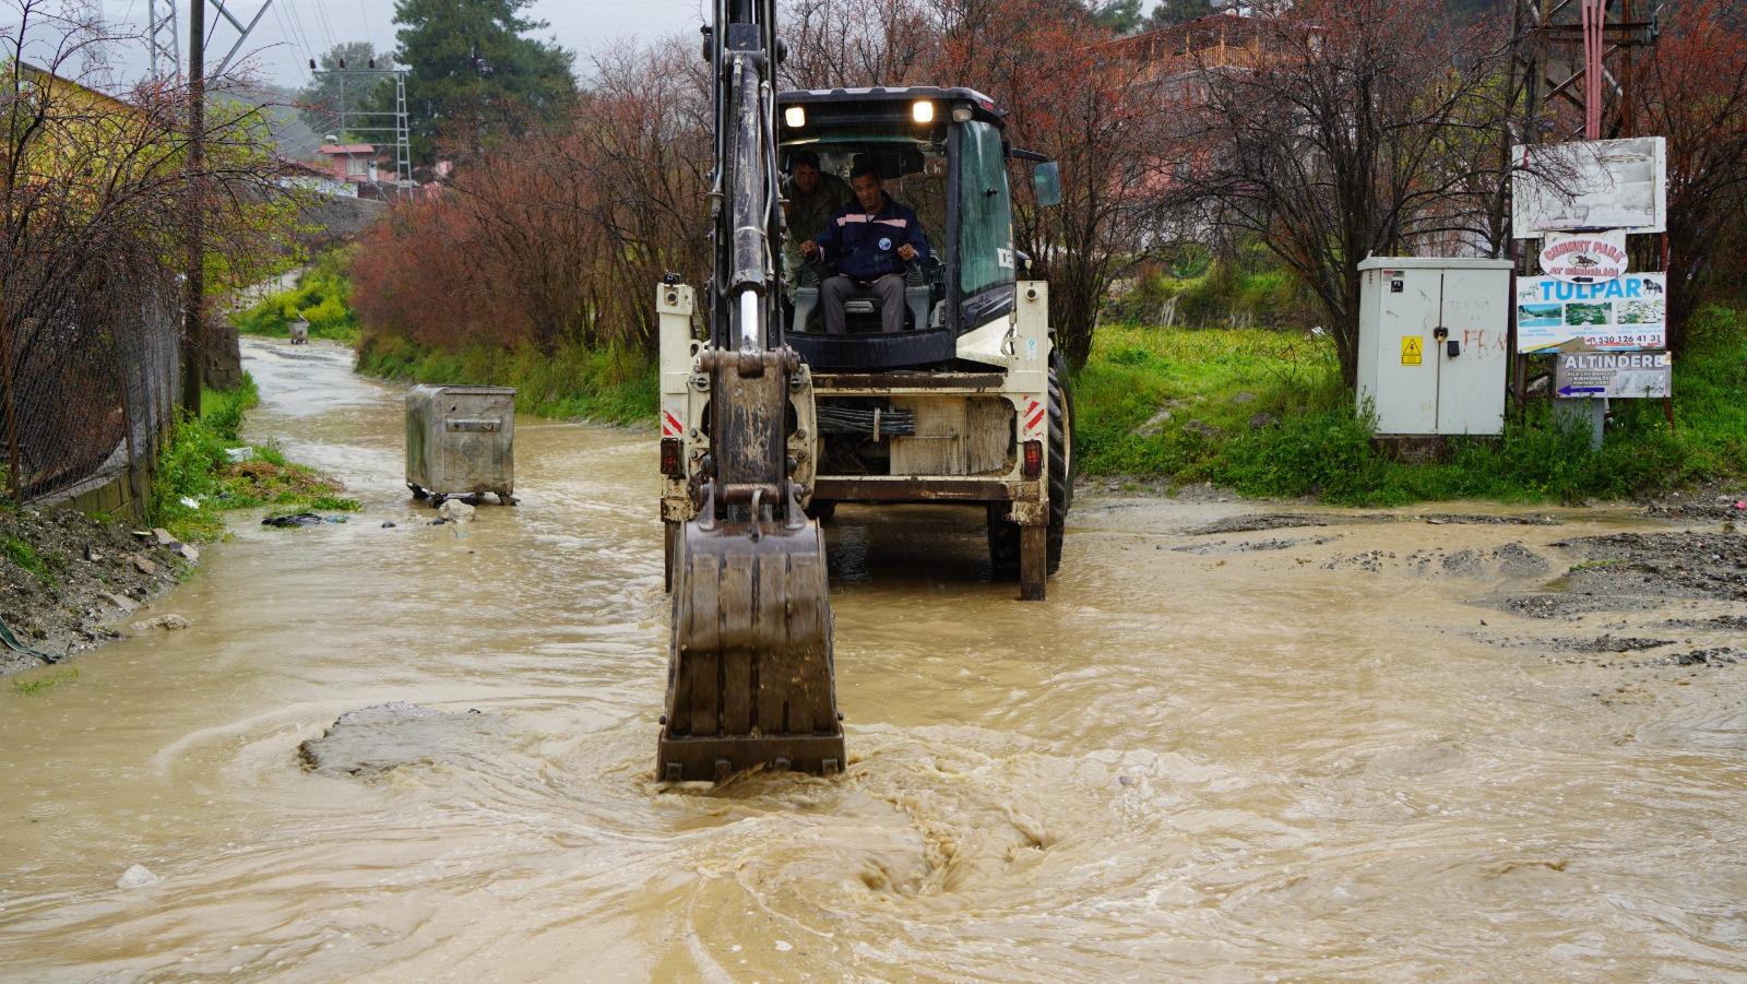
<instances>
[{"instance_id":1,"label":"green grass patch beside the fence, left of the metal dumpster","mask_svg":"<svg viewBox=\"0 0 1747 984\"><path fill-rule=\"evenodd\" d=\"M206 390L201 418L176 425L157 460L148 517L183 542L208 542L224 535L224 512L260 505L292 510L356 510L358 502L341 498L339 482L314 468L287 461L274 446L253 447L246 461L231 461L227 451L245 447L243 414L259 402L255 381L229 392ZM196 502L189 505L183 498Z\"/></svg>"}]
</instances>

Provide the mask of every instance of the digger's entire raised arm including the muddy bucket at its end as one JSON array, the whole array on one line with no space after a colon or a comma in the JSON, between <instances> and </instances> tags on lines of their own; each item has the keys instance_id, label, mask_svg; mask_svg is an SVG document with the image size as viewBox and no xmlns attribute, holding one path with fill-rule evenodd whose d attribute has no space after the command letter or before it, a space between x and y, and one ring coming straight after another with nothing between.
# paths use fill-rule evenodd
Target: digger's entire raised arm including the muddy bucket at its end
<instances>
[{"instance_id":1,"label":"digger's entire raised arm including the muddy bucket at its end","mask_svg":"<svg viewBox=\"0 0 1747 984\"><path fill-rule=\"evenodd\" d=\"M709 453L671 565L664 781L844 767L825 540L802 512L788 453L791 402L812 395L783 344L776 2L713 5L715 269L695 362L708 379Z\"/></svg>"}]
</instances>

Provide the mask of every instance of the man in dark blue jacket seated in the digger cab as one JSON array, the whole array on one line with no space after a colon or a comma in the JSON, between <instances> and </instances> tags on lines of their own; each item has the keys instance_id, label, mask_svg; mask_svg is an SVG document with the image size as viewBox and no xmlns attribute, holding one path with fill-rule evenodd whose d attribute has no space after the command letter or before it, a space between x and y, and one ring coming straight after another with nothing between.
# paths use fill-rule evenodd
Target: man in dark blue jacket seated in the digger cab
<instances>
[{"instance_id":1,"label":"man in dark blue jacket seated in the digger cab","mask_svg":"<svg viewBox=\"0 0 1747 984\"><path fill-rule=\"evenodd\" d=\"M886 194L872 161L856 161L849 191L856 199L832 215L818 239L800 245L802 253L819 253L837 267L837 276L819 285L825 330L839 336L849 330L846 301L877 297L880 330L898 332L903 329L903 266L928 259L928 236L915 213Z\"/></svg>"}]
</instances>

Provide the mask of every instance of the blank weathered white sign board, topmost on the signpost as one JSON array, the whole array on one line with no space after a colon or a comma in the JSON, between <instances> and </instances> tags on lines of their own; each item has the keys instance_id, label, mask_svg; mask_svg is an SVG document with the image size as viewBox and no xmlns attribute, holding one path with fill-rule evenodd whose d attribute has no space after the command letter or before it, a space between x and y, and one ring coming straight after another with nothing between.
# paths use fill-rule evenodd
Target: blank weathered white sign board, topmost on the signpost
<instances>
[{"instance_id":1,"label":"blank weathered white sign board, topmost on the signpost","mask_svg":"<svg viewBox=\"0 0 1747 984\"><path fill-rule=\"evenodd\" d=\"M1511 236L1548 231L1668 229L1668 150L1661 136L1516 145Z\"/></svg>"}]
</instances>

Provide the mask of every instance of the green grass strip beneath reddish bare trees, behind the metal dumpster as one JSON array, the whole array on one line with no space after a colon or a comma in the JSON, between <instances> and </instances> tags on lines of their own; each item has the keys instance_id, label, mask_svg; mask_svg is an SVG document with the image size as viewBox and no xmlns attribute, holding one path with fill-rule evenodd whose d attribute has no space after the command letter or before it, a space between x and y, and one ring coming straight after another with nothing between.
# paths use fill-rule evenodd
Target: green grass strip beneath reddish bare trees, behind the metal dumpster
<instances>
[{"instance_id":1,"label":"green grass strip beneath reddish bare trees, behind the metal dumpster","mask_svg":"<svg viewBox=\"0 0 1747 984\"><path fill-rule=\"evenodd\" d=\"M533 348L477 346L461 353L404 339L367 336L358 371L412 383L515 386L515 409L559 419L631 423L655 414L655 364L624 350L570 346L545 355Z\"/></svg>"}]
</instances>

